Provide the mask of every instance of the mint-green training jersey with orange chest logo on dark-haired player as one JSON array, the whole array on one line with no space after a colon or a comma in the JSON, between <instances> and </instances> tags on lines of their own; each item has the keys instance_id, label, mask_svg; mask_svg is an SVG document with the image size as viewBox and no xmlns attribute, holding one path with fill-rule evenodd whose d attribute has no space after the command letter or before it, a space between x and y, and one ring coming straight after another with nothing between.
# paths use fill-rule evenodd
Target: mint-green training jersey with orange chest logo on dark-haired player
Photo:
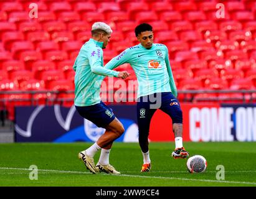
<instances>
[{"instance_id":1,"label":"mint-green training jersey with orange chest logo on dark-haired player","mask_svg":"<svg viewBox=\"0 0 256 199\"><path fill-rule=\"evenodd\" d=\"M112 58L105 68L112 70L123 63L130 63L135 71L138 98L163 92L172 92L177 96L166 45L153 44L151 49L141 44L135 45Z\"/></svg>"}]
</instances>

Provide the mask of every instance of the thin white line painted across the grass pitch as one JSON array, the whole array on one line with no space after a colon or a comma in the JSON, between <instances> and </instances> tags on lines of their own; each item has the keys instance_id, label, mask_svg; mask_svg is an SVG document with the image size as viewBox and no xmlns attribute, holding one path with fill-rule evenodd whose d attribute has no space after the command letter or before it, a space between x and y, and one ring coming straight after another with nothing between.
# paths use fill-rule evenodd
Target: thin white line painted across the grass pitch
<instances>
[{"instance_id":1,"label":"thin white line painted across the grass pitch","mask_svg":"<svg viewBox=\"0 0 256 199\"><path fill-rule=\"evenodd\" d=\"M0 167L2 170L32 170L26 168L11 168L11 167ZM63 173L63 174L90 174L89 172L79 172L79 171L72 171L72 170L47 170L47 169L37 169L39 172L56 172L56 173ZM108 174L106 174L108 175ZM227 181L227 180L204 180L204 179L191 179L191 178L177 178L177 177L161 177L161 176L144 176L144 175L128 175L128 174L121 174L115 175L116 177L138 177L138 178L158 178L158 179L168 179L168 180L185 180L185 181L199 181L199 182L218 182L218 183L242 183L247 185L256 185L256 182L239 182L239 181Z\"/></svg>"}]
</instances>

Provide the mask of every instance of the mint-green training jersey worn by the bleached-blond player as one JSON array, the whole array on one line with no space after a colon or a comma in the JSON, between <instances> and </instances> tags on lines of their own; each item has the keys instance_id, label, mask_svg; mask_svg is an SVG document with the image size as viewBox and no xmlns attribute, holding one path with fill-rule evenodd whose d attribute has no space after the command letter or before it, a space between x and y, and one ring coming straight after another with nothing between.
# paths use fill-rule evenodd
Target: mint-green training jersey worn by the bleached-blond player
<instances>
[{"instance_id":1,"label":"mint-green training jersey worn by the bleached-blond player","mask_svg":"<svg viewBox=\"0 0 256 199\"><path fill-rule=\"evenodd\" d=\"M118 76L119 72L103 67L103 42L90 39L78 53L75 70L75 106L100 103L100 86L105 76Z\"/></svg>"}]
</instances>

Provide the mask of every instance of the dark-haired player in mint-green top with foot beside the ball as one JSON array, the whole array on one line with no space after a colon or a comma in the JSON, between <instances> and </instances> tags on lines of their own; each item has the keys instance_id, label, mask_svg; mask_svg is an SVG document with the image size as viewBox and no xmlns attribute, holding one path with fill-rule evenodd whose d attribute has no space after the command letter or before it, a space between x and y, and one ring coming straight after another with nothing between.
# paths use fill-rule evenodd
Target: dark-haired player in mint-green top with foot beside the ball
<instances>
[{"instance_id":1,"label":"dark-haired player in mint-green top with foot beside the ball","mask_svg":"<svg viewBox=\"0 0 256 199\"><path fill-rule=\"evenodd\" d=\"M105 65L113 69L123 63L130 63L138 80L137 118L139 143L143 154L141 172L149 172L149 125L156 109L161 109L173 120L175 149L172 156L189 156L183 147L183 113L177 97L177 89L169 63L168 48L163 44L154 44L153 28L149 24L140 24L135 28L140 44L126 49ZM154 99L154 100L152 100Z\"/></svg>"}]
</instances>

